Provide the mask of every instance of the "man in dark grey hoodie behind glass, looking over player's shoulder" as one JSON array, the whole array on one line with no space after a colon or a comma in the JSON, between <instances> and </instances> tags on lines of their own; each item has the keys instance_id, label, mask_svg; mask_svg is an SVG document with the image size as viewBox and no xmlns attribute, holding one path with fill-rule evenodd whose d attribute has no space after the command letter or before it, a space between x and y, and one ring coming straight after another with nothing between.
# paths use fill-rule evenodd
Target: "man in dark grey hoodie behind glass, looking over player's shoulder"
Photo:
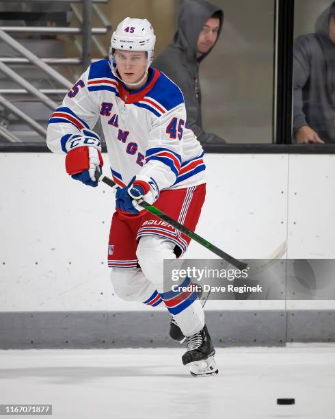
<instances>
[{"instance_id":1,"label":"man in dark grey hoodie behind glass, looking over player's shoulder","mask_svg":"<svg viewBox=\"0 0 335 419\"><path fill-rule=\"evenodd\" d=\"M202 128L199 65L219 38L224 13L204 0L185 0L178 16L174 41L154 60L152 66L163 71L184 94L187 127L202 144L225 143L223 138Z\"/></svg>"}]
</instances>

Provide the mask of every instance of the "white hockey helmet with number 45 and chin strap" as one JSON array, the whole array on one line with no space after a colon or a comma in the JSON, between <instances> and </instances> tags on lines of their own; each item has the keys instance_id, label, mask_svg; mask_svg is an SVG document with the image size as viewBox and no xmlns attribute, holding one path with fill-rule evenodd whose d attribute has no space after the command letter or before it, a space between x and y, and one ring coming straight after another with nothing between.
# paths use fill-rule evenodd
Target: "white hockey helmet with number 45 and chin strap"
<instances>
[{"instance_id":1,"label":"white hockey helmet with number 45 and chin strap","mask_svg":"<svg viewBox=\"0 0 335 419\"><path fill-rule=\"evenodd\" d=\"M147 19L125 18L118 24L118 27L113 31L113 35L111 36L109 66L113 75L120 79L120 75L117 73L114 51L116 49L123 49L124 51L146 51L148 66L144 74L145 77L148 74L148 68L154 57L155 42L156 36L154 29ZM141 83L142 80L136 84Z\"/></svg>"}]
</instances>

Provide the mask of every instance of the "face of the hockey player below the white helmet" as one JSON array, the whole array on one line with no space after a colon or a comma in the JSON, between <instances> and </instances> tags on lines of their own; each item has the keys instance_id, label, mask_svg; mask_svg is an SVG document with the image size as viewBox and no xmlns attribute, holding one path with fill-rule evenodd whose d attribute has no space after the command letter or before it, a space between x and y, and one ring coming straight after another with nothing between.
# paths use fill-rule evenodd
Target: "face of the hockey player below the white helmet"
<instances>
[{"instance_id":1,"label":"face of the hockey player below the white helmet","mask_svg":"<svg viewBox=\"0 0 335 419\"><path fill-rule=\"evenodd\" d=\"M114 56L118 72L125 84L136 83L142 79L148 65L145 51L120 51L116 49Z\"/></svg>"}]
</instances>

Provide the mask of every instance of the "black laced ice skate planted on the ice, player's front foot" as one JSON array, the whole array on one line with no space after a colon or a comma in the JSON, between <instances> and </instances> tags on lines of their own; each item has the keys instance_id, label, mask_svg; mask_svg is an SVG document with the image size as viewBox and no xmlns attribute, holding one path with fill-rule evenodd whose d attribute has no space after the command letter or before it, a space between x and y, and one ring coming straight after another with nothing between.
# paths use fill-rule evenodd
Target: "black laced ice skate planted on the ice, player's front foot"
<instances>
[{"instance_id":1,"label":"black laced ice skate planted on the ice, player's front foot","mask_svg":"<svg viewBox=\"0 0 335 419\"><path fill-rule=\"evenodd\" d=\"M219 372L215 364L215 349L206 325L194 335L187 336L187 351L181 358L193 377L206 377Z\"/></svg>"}]
</instances>

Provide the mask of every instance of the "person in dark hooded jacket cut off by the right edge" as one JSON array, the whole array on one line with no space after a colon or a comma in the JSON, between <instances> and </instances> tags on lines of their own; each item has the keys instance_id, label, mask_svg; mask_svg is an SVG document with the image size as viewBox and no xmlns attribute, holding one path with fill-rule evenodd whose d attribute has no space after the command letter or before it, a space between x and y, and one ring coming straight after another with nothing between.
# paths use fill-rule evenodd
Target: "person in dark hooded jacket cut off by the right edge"
<instances>
[{"instance_id":1,"label":"person in dark hooded jacket cut off by the right edge","mask_svg":"<svg viewBox=\"0 0 335 419\"><path fill-rule=\"evenodd\" d=\"M293 136L298 143L335 143L335 1L293 51Z\"/></svg>"}]
</instances>

